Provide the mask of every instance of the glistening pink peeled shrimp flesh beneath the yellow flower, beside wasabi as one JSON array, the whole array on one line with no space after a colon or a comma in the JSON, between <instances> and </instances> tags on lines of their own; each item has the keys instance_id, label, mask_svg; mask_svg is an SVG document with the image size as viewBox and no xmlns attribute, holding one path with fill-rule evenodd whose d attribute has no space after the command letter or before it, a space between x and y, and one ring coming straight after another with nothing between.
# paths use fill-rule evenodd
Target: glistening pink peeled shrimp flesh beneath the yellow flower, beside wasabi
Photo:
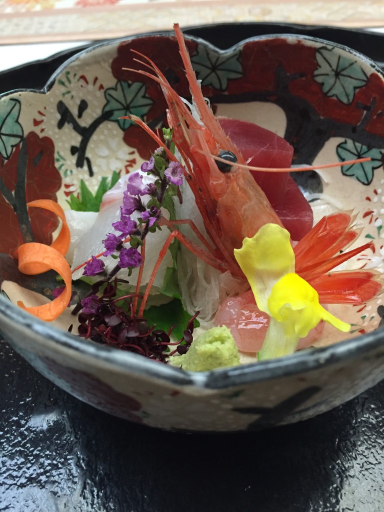
<instances>
[{"instance_id":1,"label":"glistening pink peeled shrimp flesh beneath the yellow flower, beside wasabi","mask_svg":"<svg viewBox=\"0 0 384 512\"><path fill-rule=\"evenodd\" d=\"M269 325L269 316L260 311L252 291L248 290L236 297L227 298L217 310L214 323L217 326L228 327L239 350L255 353L262 348ZM322 335L323 330L324 322L320 322L300 340L297 349L313 345Z\"/></svg>"}]
</instances>

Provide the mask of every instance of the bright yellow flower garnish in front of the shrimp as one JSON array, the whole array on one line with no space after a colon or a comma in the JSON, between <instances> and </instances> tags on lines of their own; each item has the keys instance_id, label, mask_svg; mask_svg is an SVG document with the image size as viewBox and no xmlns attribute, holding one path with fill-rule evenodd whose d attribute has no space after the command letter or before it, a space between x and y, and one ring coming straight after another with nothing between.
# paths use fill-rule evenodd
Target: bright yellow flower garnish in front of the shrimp
<instances>
[{"instance_id":1,"label":"bright yellow flower garnish in front of the shrimp","mask_svg":"<svg viewBox=\"0 0 384 512\"><path fill-rule=\"evenodd\" d=\"M295 256L289 232L265 224L252 238L245 238L234 256L243 270L261 311L270 324L258 359L291 354L300 338L324 320L343 332L350 325L319 304L318 293L295 273Z\"/></svg>"}]
</instances>

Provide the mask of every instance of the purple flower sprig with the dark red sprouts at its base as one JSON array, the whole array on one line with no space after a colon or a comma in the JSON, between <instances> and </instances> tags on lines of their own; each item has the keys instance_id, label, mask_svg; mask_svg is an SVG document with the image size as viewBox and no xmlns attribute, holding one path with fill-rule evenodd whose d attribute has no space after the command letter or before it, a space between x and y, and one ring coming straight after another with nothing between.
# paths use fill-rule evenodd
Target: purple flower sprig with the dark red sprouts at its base
<instances>
[{"instance_id":1,"label":"purple flower sprig with the dark red sprouts at its base","mask_svg":"<svg viewBox=\"0 0 384 512\"><path fill-rule=\"evenodd\" d=\"M164 131L164 140L166 148L173 152L172 130ZM144 301L137 313L138 299L142 298L138 295L140 280L136 293L122 296L118 292L118 284L129 281L118 279L115 274L124 269L129 277L133 269L143 265L144 254L141 254L139 246L144 245L148 233L160 228L163 208L168 209L171 219L175 219L173 196L181 196L178 187L183 182L185 171L179 162L168 158L163 147L159 147L141 165L141 172L144 176L137 172L128 177L120 219L112 224L115 232L106 234L103 240L105 251L101 255L118 259L117 264L107 274L100 255L91 257L83 273L99 275L100 280L92 284L89 293L78 302L72 313L78 315L80 336L166 362L169 355L183 354L188 350L193 341L194 319L198 312L190 318L181 339L171 342L170 335L175 326L168 332L156 329L156 325L151 327L141 313ZM150 180L145 180L145 173L151 176ZM124 246L128 241L129 246ZM169 346L175 346L172 352L169 352Z\"/></svg>"}]
</instances>

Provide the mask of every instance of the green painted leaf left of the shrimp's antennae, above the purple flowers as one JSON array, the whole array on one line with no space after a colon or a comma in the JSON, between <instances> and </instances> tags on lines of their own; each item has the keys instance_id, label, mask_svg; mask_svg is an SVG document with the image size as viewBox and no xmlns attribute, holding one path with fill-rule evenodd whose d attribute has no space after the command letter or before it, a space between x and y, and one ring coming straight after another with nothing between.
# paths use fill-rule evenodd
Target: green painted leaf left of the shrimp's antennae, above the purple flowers
<instances>
[{"instance_id":1,"label":"green painted leaf left of the shrimp's antennae, above the purple flowers","mask_svg":"<svg viewBox=\"0 0 384 512\"><path fill-rule=\"evenodd\" d=\"M133 121L130 119L119 119L121 116L135 114L143 118L150 109L153 100L146 96L145 83L141 82L116 82L116 87L105 90L106 103L103 114L110 113L110 121L117 121L121 130L126 130Z\"/></svg>"}]
</instances>

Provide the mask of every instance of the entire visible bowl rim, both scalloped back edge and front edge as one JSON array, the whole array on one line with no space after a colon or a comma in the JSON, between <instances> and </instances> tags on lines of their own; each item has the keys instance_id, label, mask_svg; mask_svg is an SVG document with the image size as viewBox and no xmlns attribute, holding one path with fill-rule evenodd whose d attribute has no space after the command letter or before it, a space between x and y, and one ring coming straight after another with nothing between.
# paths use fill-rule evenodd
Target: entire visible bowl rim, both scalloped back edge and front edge
<instances>
[{"instance_id":1,"label":"entire visible bowl rim, both scalloped back edge and front edge","mask_svg":"<svg viewBox=\"0 0 384 512\"><path fill-rule=\"evenodd\" d=\"M156 31L102 41L98 44L94 44L88 48L82 49L68 58L57 68L57 70L47 81L46 85L40 90L13 89L11 91L0 94L0 99L18 92L31 92L38 94L48 93L61 72L70 66L74 61L82 58L88 53L98 51L102 48L118 46L122 42L130 41L132 39L153 36L172 37L173 35L174 32L172 30ZM234 49L242 47L248 42L263 41L271 38L309 40L315 43L339 48L343 51L351 53L363 61L366 65L369 65L373 71L378 73L384 80L384 73L370 57L367 57L364 54L343 44L319 37L313 37L310 35L290 33L256 35L241 40L230 48L224 50L217 48L214 44L206 41L201 37L189 34L185 34L185 37L186 39L196 41L199 44L203 44L204 46L209 46L218 53L228 53ZM18 308L16 305L13 305L0 294L0 320L2 319L2 316L6 319L7 323L12 322L14 325L16 325L17 329L30 329L33 334L44 337L45 340L48 340L48 342L51 344L52 348L54 348L55 345L59 345L75 352L81 352L83 355L96 358L100 362L114 365L123 371L131 371L143 377L152 377L160 380L166 380L167 382L175 383L177 385L189 385L205 389L225 389L234 386L245 385L250 382L278 379L292 374L305 373L311 370L323 368L328 365L336 364L342 360L345 361L348 359L356 358L358 356L364 356L364 354L368 352L379 349L382 345L382 335L381 331L378 329L374 332L360 335L352 339L343 340L336 343L335 345L323 348L302 350L289 356L284 356L277 359L253 362L250 364L216 369L208 372L190 372L172 367L170 365L154 364L154 361L146 359L140 355L131 352L117 351L114 348L103 347L94 342L89 342L86 339L76 337L68 332L51 326L49 323L43 322L40 319L33 317L28 312ZM0 330L2 330L1 326ZM7 339L7 336L4 337ZM12 342L10 343L12 345Z\"/></svg>"}]
</instances>

